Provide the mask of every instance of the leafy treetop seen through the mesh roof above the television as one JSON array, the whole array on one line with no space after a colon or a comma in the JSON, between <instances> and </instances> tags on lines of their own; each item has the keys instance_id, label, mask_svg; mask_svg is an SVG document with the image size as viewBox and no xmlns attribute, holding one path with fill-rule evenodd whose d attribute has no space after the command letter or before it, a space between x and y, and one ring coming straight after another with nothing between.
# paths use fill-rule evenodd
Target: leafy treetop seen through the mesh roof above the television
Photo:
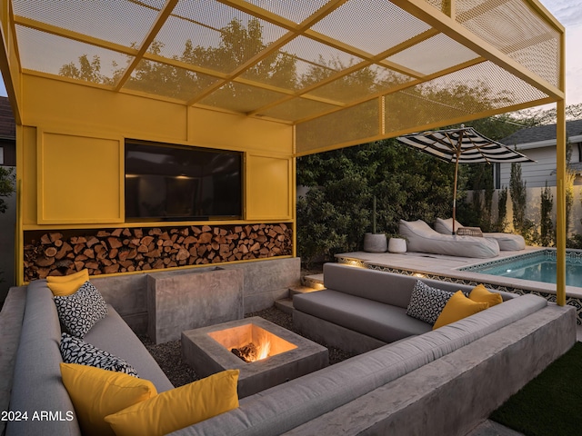
<instances>
[{"instance_id":1,"label":"leafy treetop seen through the mesh roof above the television","mask_svg":"<svg viewBox=\"0 0 582 436\"><path fill-rule=\"evenodd\" d=\"M194 45L192 40L186 40L184 50L172 59L185 64L200 65L221 72L234 71L254 55L260 53L266 45L263 43L263 28L256 18L248 20L246 25L234 19L220 29L220 43L216 46L203 47ZM134 48L136 44L132 45ZM149 54L162 55L165 45L155 40L148 47ZM127 58L127 64L130 62ZM109 78L101 73L101 59L98 55L88 59L87 54L78 57L77 63L64 64L59 74L77 80L85 80L95 84L116 84L125 74L126 65L112 65L115 69ZM247 79L268 82L285 88L296 87L296 57L284 52L271 54L259 64L253 66L245 74ZM216 78L208 74L198 74L185 68L176 68L170 64L143 60L135 67L127 87L137 91L162 94L182 100L189 100L216 82ZM265 91L265 93L268 93ZM229 84L221 88L211 98L232 98L244 101L251 94L244 86L236 87ZM261 98L252 94L253 98Z\"/></svg>"}]
</instances>

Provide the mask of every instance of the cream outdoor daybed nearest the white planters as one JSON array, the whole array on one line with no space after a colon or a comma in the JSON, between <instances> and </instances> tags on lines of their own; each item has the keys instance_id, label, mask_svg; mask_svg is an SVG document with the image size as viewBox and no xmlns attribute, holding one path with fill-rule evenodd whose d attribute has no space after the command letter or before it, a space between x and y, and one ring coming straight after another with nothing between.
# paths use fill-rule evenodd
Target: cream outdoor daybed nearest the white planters
<instances>
[{"instance_id":1,"label":"cream outdoor daybed nearest the white planters","mask_svg":"<svg viewBox=\"0 0 582 436\"><path fill-rule=\"evenodd\" d=\"M406 249L409 252L479 259L499 255L499 244L495 239L438 233L422 220L400 220L398 233L406 238Z\"/></svg>"}]
</instances>

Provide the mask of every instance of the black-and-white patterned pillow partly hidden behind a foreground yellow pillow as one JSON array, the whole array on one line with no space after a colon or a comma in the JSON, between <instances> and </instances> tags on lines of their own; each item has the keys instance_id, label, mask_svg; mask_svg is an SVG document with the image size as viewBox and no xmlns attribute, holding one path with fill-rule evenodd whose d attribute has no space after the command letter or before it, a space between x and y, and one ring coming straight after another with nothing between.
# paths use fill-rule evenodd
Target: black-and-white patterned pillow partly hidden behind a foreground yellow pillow
<instances>
[{"instance_id":1,"label":"black-and-white patterned pillow partly hidden behind a foreground yellow pillow","mask_svg":"<svg viewBox=\"0 0 582 436\"><path fill-rule=\"evenodd\" d=\"M90 343L75 338L75 336L71 336L68 333L61 334L59 348L65 363L77 363L107 371L125 372L125 374L139 378L134 367L124 359L114 356L110 352L99 350Z\"/></svg>"}]
</instances>

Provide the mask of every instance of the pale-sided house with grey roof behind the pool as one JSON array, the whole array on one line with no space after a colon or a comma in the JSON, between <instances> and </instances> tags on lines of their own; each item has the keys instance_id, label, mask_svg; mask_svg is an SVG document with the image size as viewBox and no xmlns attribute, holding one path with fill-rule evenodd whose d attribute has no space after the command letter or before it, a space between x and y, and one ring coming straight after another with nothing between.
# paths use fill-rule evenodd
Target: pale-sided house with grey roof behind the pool
<instances>
[{"instance_id":1,"label":"pale-sided house with grey roof behind the pool","mask_svg":"<svg viewBox=\"0 0 582 436\"><path fill-rule=\"evenodd\" d=\"M571 147L570 168L582 173L582 120L566 122L567 143ZM500 141L526 154L536 162L521 163L522 180L528 188L556 186L556 124L521 129ZM511 163L500 163L495 168L496 188L509 186ZM577 177L574 184L582 184Z\"/></svg>"}]
</instances>

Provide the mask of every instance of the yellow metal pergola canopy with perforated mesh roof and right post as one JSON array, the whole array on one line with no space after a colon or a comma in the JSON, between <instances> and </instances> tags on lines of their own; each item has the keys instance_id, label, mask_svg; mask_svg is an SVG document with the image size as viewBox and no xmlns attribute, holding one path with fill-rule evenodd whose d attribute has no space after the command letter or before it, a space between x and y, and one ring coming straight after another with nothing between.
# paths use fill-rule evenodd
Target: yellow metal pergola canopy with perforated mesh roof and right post
<instances>
[{"instance_id":1,"label":"yellow metal pergola canopy with perforated mesh roof and right post","mask_svg":"<svg viewBox=\"0 0 582 436\"><path fill-rule=\"evenodd\" d=\"M294 157L556 103L565 303L565 29L537 0L3 0L0 19L17 124L28 77L288 125Z\"/></svg>"}]
</instances>

